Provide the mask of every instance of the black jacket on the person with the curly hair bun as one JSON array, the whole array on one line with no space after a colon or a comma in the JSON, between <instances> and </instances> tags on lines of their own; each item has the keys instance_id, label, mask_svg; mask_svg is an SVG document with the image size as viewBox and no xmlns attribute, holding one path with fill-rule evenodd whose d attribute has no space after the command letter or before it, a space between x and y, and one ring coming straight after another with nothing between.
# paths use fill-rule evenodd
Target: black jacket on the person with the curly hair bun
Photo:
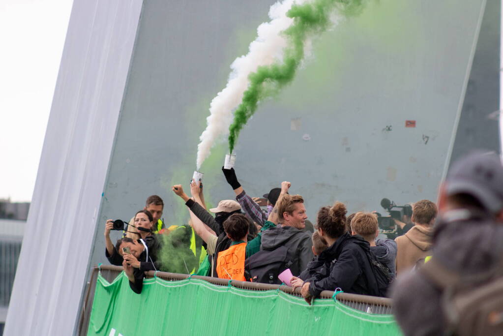
<instances>
[{"instance_id":1,"label":"black jacket on the person with the curly hair bun","mask_svg":"<svg viewBox=\"0 0 503 336\"><path fill-rule=\"evenodd\" d=\"M378 295L379 288L368 255L370 244L359 235L343 234L319 256L323 267L310 282L309 293L341 288L346 293Z\"/></svg>"}]
</instances>

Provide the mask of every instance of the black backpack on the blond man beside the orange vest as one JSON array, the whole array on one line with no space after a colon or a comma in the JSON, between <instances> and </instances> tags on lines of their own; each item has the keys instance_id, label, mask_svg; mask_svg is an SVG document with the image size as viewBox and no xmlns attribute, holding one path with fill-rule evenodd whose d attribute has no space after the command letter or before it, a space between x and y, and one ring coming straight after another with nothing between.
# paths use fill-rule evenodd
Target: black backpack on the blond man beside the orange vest
<instances>
[{"instance_id":1,"label":"black backpack on the blond man beside the orange vest","mask_svg":"<svg viewBox=\"0 0 503 336\"><path fill-rule=\"evenodd\" d=\"M245 260L244 277L246 281L280 285L278 275L292 266L296 255L289 253L285 246L260 250Z\"/></svg>"}]
</instances>

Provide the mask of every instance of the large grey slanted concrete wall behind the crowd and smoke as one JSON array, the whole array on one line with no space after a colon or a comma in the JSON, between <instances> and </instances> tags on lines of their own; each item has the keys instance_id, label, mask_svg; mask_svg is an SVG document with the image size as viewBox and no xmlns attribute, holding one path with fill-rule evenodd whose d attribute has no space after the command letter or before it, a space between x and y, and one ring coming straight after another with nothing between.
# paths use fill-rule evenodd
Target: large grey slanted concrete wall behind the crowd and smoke
<instances>
[{"instance_id":1,"label":"large grey slanted concrete wall behind the crowd and smoke","mask_svg":"<svg viewBox=\"0 0 503 336\"><path fill-rule=\"evenodd\" d=\"M168 224L187 220L171 186L188 189L209 103L271 4L144 4L91 264L105 261L106 219L129 219L149 195L164 199ZM319 36L293 84L262 102L241 132L236 172L247 193L291 181L313 221L335 200L350 211L381 210L383 197L435 200L484 5L369 2L362 15ZM220 172L225 152L223 143L201 169L213 204L234 196Z\"/></svg>"}]
</instances>

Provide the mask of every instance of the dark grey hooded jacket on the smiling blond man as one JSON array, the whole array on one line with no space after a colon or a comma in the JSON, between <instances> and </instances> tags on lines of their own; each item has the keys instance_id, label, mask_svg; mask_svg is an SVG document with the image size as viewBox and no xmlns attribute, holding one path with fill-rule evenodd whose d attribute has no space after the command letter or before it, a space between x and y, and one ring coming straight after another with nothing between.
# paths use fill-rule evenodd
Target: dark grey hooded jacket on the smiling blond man
<instances>
[{"instance_id":1,"label":"dark grey hooded jacket on the smiling blond man","mask_svg":"<svg viewBox=\"0 0 503 336\"><path fill-rule=\"evenodd\" d=\"M279 246L286 246L289 254L294 256L290 271L294 276L298 276L314 257L312 244L309 232L303 232L291 226L282 226L270 228L262 234L260 249L273 250Z\"/></svg>"}]
</instances>

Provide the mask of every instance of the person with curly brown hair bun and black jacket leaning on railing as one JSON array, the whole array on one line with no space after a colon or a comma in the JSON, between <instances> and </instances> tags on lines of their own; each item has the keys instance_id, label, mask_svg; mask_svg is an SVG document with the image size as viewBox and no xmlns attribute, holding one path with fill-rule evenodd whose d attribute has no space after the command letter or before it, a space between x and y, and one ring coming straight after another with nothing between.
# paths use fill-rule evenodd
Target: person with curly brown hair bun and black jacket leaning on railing
<instances>
[{"instance_id":1,"label":"person with curly brown hair bun and black jacket leaning on railing","mask_svg":"<svg viewBox=\"0 0 503 336\"><path fill-rule=\"evenodd\" d=\"M318 257L323 266L305 282L292 278L292 287L301 287L301 294L309 304L321 291L333 291L336 288L341 288L346 293L379 295L368 258L370 244L347 231L347 212L346 206L340 202L318 211L318 234L328 245Z\"/></svg>"}]
</instances>

